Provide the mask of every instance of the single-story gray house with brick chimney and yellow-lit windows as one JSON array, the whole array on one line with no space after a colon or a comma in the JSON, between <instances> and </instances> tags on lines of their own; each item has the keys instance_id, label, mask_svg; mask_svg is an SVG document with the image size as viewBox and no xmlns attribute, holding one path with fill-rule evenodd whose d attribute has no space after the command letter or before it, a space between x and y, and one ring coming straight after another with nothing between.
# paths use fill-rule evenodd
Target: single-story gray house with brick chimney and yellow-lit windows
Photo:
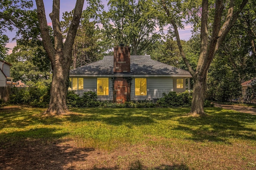
<instances>
[{"instance_id":1,"label":"single-story gray house with brick chimney and yellow-lit windows","mask_svg":"<svg viewBox=\"0 0 256 170\"><path fill-rule=\"evenodd\" d=\"M148 55L131 56L130 47L120 45L114 47L114 56L70 70L69 90L76 90L80 96L96 92L99 100L118 103L155 101L163 93L184 92L186 78L191 77L188 71L154 61Z\"/></svg>"}]
</instances>

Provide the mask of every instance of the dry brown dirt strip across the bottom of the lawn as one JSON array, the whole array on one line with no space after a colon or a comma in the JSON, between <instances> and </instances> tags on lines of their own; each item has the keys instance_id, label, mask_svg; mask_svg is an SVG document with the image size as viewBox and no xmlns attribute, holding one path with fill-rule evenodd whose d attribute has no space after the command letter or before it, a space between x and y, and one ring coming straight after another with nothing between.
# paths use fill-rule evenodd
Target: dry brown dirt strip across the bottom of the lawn
<instances>
[{"instance_id":1,"label":"dry brown dirt strip across the bottom of the lawn","mask_svg":"<svg viewBox=\"0 0 256 170\"><path fill-rule=\"evenodd\" d=\"M114 151L79 148L72 140L2 143L1 170L256 169L255 148L185 144L124 146ZM249 155L248 155L249 154ZM251 156L254 156L252 158Z\"/></svg>"}]
</instances>

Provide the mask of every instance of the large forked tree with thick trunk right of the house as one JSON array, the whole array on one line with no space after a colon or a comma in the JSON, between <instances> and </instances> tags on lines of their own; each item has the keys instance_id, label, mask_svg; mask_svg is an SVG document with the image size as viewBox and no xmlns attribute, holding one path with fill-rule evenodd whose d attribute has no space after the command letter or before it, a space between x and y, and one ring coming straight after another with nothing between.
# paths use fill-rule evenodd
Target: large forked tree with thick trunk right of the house
<instances>
[{"instance_id":1,"label":"large forked tree with thick trunk right of the house","mask_svg":"<svg viewBox=\"0 0 256 170\"><path fill-rule=\"evenodd\" d=\"M180 49L181 56L194 80L193 98L190 113L204 115L204 97L206 92L206 78L208 69L222 41L226 37L227 33L230 31L232 26L235 24L238 15L242 11L248 0L242 0L242 2L230 0L229 3L222 0L216 0L214 4L209 3L208 0L202 0L202 4L200 6L190 8L189 12L186 13L188 15L194 15L196 14L196 12L200 11L199 16L201 16L201 20L199 23L200 54L196 70L193 70L182 48L177 26L177 23L179 24L181 20L175 18L175 16L170 13L171 10L174 10L174 8L171 8L172 4L178 4L178 6L180 6L181 2L170 2L167 0L161 0L161 2L168 16L168 19L174 28L174 33L176 35L176 40ZM194 3L194 1L191 1L191 4L196 3ZM188 6L190 6L191 4L189 4ZM195 10L196 12L194 12L193 10ZM226 18L223 21L222 18L224 18L224 16L226 16ZM193 23L197 23L198 20L190 21L192 21ZM209 23L209 21L212 22Z\"/></svg>"}]
</instances>

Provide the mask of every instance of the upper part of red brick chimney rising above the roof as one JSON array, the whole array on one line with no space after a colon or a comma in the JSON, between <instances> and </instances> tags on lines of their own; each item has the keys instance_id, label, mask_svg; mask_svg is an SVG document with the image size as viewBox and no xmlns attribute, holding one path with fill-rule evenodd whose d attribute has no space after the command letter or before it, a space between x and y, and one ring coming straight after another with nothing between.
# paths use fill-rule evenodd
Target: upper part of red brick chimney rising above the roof
<instances>
[{"instance_id":1,"label":"upper part of red brick chimney rising above the roof","mask_svg":"<svg viewBox=\"0 0 256 170\"><path fill-rule=\"evenodd\" d=\"M130 73L130 48L124 44L114 47L114 74Z\"/></svg>"}]
</instances>

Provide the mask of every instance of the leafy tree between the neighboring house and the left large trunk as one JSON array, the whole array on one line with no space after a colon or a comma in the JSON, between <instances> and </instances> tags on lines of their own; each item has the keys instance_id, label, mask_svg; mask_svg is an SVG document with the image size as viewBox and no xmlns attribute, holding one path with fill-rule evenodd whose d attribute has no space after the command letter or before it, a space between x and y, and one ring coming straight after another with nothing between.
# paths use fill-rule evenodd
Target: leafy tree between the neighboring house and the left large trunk
<instances>
[{"instance_id":1,"label":"leafy tree between the neighboring house and the left large trunk","mask_svg":"<svg viewBox=\"0 0 256 170\"><path fill-rule=\"evenodd\" d=\"M37 82L50 84L50 60L42 45L17 45L6 61L12 63L10 73L14 82L21 80L27 86L34 86Z\"/></svg>"}]
</instances>

